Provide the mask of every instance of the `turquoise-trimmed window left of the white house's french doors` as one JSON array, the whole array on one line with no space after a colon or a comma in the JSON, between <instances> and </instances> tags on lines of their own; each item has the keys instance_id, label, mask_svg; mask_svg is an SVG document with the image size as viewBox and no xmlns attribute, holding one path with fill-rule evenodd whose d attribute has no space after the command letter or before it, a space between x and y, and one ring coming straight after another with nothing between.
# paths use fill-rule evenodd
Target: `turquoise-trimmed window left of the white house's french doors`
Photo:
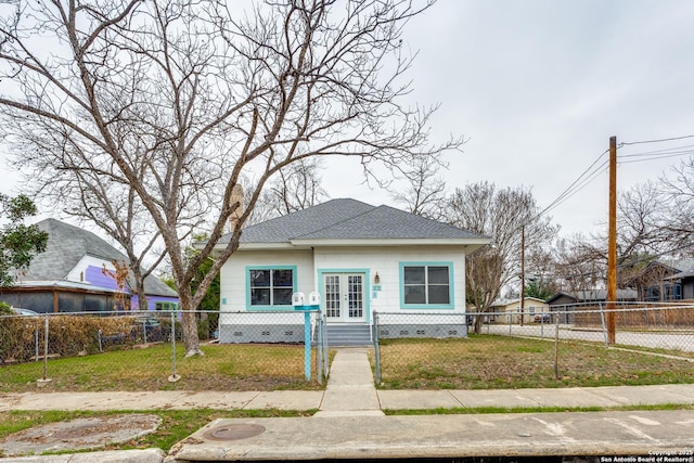
<instances>
[{"instance_id":1,"label":"turquoise-trimmed window left of the white house's french doors","mask_svg":"<svg viewBox=\"0 0 694 463\"><path fill-rule=\"evenodd\" d=\"M250 306L291 306L294 278L294 268L248 269Z\"/></svg>"}]
</instances>

